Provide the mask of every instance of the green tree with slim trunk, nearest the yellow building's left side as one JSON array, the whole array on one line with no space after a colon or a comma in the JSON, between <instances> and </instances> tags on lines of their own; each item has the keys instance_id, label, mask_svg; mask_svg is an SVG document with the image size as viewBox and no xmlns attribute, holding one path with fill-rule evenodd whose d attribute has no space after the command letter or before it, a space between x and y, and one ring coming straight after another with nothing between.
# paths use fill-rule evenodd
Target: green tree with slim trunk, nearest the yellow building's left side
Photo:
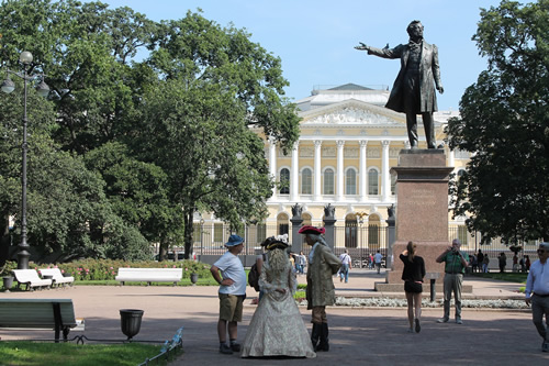
<instances>
[{"instance_id":1,"label":"green tree with slim trunk, nearest the yellow building's left side","mask_svg":"<svg viewBox=\"0 0 549 366\"><path fill-rule=\"evenodd\" d=\"M163 23L148 64L160 80L144 97L138 148L169 176L170 199L182 207L186 257L197 211L231 223L266 217L268 176L258 132L290 146L295 107L283 97L280 59L198 13Z\"/></svg>"}]
</instances>

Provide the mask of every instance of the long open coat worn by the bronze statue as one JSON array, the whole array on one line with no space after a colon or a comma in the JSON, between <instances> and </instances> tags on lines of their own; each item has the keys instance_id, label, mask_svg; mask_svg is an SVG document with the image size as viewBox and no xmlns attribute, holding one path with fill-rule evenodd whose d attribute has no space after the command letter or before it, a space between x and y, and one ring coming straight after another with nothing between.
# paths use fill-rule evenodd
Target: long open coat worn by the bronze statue
<instances>
[{"instance_id":1,"label":"long open coat worn by the bronze statue","mask_svg":"<svg viewBox=\"0 0 549 366\"><path fill-rule=\"evenodd\" d=\"M436 45L422 41L419 56L419 110L406 111L404 108L404 78L406 74L407 60L410 57L410 44L401 44L394 48L369 47L368 54L383 58L400 58L401 70L396 76L393 89L389 96L385 108L396 112L423 113L437 111L437 96L435 85L440 86L440 66L438 64L438 48Z\"/></svg>"}]
</instances>

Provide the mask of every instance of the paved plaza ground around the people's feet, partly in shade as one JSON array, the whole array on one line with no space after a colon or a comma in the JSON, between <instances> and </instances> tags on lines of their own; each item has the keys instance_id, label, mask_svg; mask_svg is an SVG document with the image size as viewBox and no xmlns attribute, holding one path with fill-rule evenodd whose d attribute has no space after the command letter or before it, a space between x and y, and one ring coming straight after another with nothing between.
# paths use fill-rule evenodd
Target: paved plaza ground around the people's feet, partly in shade
<instances>
[{"instance_id":1,"label":"paved plaza ground around the people's feet, partly in shade","mask_svg":"<svg viewBox=\"0 0 549 366\"><path fill-rule=\"evenodd\" d=\"M346 297L402 298L403 293L379 293L376 281L383 274L352 269L349 284L335 279L336 293ZM304 276L300 276L304 281ZM512 299L519 284L466 277L473 293L466 298ZM428 286L425 286L428 297ZM248 287L244 321L238 325L243 341L254 314ZM328 308L330 351L314 359L242 359L237 354L217 352L217 287L189 286L76 286L75 288L34 292L0 292L9 298L68 298L75 303L77 318L86 319L87 342L124 340L120 330L120 309L144 310L143 323L135 341L165 341L183 326L183 350L170 365L549 365L549 353L540 351L529 310L463 309L463 325L438 324L442 310L424 309L422 332L407 333L405 308ZM437 299L441 293L437 293ZM301 308L311 331L310 311ZM451 314L453 313L453 310ZM53 339L49 331L0 331L2 341L14 339ZM96 340L96 341L93 341ZM289 340L291 342L291 340Z\"/></svg>"}]
</instances>

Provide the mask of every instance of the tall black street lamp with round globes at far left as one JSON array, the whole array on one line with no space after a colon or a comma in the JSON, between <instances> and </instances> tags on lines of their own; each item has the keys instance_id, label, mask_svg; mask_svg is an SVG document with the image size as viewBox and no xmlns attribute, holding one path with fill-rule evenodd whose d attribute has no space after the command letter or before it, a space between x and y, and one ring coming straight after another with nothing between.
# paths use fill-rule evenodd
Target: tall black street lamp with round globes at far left
<instances>
[{"instance_id":1,"label":"tall black street lamp with round globes at far left","mask_svg":"<svg viewBox=\"0 0 549 366\"><path fill-rule=\"evenodd\" d=\"M29 269L29 244L26 243L26 152L29 149L26 144L26 84L27 81L40 80L36 86L36 91L41 97L47 97L49 87L44 82L44 74L29 75L29 67L33 62L33 55L29 51L23 51L19 57L19 62L23 66L22 73L8 70L8 78L2 82L1 89L5 93L15 90L15 84L10 79L10 74L15 75L23 79L24 84L24 113L23 113L23 144L22 149L22 166L21 166L21 244L19 244L18 252L18 269Z\"/></svg>"}]
</instances>

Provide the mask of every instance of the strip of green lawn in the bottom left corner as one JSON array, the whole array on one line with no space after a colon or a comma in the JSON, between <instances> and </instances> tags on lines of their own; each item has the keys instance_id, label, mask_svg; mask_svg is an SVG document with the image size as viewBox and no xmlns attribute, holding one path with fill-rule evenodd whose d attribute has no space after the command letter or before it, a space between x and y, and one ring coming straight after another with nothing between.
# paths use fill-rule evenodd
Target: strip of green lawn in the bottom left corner
<instances>
[{"instance_id":1,"label":"strip of green lawn in the bottom left corner","mask_svg":"<svg viewBox=\"0 0 549 366\"><path fill-rule=\"evenodd\" d=\"M0 342L1 365L138 365L160 353L160 345L143 343L75 344L31 341ZM160 357L163 358L163 357ZM156 361L154 363L156 364ZM165 361L158 365L167 365Z\"/></svg>"}]
</instances>

